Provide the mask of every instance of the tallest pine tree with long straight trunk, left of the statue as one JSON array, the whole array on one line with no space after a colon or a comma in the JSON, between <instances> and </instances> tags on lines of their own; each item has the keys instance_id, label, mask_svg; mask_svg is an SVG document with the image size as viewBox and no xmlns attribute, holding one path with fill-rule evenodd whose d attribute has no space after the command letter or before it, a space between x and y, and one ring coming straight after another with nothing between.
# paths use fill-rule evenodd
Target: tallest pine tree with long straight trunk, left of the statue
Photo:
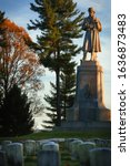
<instances>
[{"instance_id":1,"label":"tallest pine tree with long straight trunk, left of the statue","mask_svg":"<svg viewBox=\"0 0 130 166\"><path fill-rule=\"evenodd\" d=\"M28 25L29 29L41 30L38 37L39 56L42 64L56 72L57 115L58 126L61 124L60 107L60 71L66 63L66 56L71 58L80 49L73 39L81 37L83 13L77 9L72 0L34 0L31 10L39 14L39 19Z\"/></svg>"}]
</instances>

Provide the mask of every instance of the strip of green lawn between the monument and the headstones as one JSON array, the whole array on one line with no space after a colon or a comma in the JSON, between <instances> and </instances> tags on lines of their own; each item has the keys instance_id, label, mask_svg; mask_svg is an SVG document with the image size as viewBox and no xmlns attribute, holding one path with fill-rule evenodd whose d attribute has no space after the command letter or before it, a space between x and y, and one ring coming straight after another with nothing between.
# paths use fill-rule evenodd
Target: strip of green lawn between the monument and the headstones
<instances>
[{"instance_id":1,"label":"strip of green lawn between the monument and the headstones","mask_svg":"<svg viewBox=\"0 0 130 166\"><path fill-rule=\"evenodd\" d=\"M18 137L0 137L0 141L10 139L10 141L24 141L24 139L47 139L47 138L111 138L111 131L89 131L89 132L69 132L69 131L43 131L39 133L32 133L29 135L18 136Z\"/></svg>"}]
</instances>

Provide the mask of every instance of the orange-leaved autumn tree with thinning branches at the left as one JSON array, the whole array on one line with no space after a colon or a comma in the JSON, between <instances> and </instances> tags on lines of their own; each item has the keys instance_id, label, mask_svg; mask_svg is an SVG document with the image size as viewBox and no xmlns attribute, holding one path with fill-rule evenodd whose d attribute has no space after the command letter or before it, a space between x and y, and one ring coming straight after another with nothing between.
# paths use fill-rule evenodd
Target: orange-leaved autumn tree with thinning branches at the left
<instances>
[{"instance_id":1,"label":"orange-leaved autumn tree with thinning branches at the left","mask_svg":"<svg viewBox=\"0 0 130 166\"><path fill-rule=\"evenodd\" d=\"M9 90L17 84L22 90L33 90L40 85L42 68L39 58L28 46L29 34L21 27L6 19L1 24L4 29L6 46L0 59L0 92L6 97Z\"/></svg>"}]
</instances>

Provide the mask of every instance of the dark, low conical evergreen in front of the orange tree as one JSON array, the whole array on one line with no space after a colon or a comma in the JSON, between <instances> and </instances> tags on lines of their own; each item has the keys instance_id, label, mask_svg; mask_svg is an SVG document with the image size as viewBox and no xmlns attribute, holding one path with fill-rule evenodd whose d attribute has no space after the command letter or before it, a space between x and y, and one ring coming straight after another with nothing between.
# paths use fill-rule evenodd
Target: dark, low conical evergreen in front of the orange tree
<instances>
[{"instance_id":1,"label":"dark, low conical evergreen in front of the orange tree","mask_svg":"<svg viewBox=\"0 0 130 166\"><path fill-rule=\"evenodd\" d=\"M0 134L2 136L29 134L33 124L27 95L13 85L0 107Z\"/></svg>"}]
</instances>

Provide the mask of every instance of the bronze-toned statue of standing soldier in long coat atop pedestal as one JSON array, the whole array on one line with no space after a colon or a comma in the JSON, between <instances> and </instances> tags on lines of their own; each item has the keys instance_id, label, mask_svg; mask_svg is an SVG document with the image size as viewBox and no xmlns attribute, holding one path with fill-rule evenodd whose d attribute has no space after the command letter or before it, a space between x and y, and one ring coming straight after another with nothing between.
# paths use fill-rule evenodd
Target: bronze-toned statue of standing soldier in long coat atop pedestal
<instances>
[{"instance_id":1,"label":"bronze-toned statue of standing soldier in long coat atop pedestal","mask_svg":"<svg viewBox=\"0 0 130 166\"><path fill-rule=\"evenodd\" d=\"M82 29L86 31L83 41L83 61L87 60L88 52L91 53L91 61L97 61L97 53L101 52L99 32L102 30L101 22L94 17L93 8L88 9L89 17L84 18Z\"/></svg>"}]
</instances>

